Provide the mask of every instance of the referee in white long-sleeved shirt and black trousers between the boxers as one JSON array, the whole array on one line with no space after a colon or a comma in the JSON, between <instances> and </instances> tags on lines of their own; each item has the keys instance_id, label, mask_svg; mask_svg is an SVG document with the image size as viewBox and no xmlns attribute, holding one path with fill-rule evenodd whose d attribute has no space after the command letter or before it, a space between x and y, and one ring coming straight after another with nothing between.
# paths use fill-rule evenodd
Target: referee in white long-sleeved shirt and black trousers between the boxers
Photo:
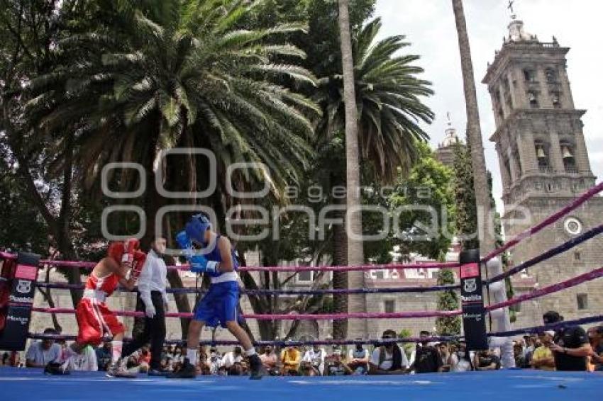
<instances>
[{"instance_id":1,"label":"referee in white long-sleeved shirt and black trousers between the boxers","mask_svg":"<svg viewBox=\"0 0 603 401\"><path fill-rule=\"evenodd\" d=\"M139 302L137 310L145 312L145 329L123 347L122 357L132 354L150 342L149 375L165 375L161 371L161 354L165 341L165 312L167 311L167 266L163 260L165 238L156 237L138 277Z\"/></svg>"}]
</instances>

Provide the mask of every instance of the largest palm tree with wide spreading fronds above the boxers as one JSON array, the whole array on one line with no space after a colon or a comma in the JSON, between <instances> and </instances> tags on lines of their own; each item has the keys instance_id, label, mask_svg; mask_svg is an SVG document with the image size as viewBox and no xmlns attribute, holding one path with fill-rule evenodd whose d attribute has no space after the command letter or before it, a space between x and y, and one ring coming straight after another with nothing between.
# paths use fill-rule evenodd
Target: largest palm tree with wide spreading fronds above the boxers
<instances>
[{"instance_id":1,"label":"largest palm tree with wide spreading fronds above the boxers","mask_svg":"<svg viewBox=\"0 0 603 401\"><path fill-rule=\"evenodd\" d=\"M60 132L67 121L84 121L74 137L74 164L89 193L97 193L99 173L108 162L145 167L148 191L142 205L155 230L157 210L170 200L155 188L166 171L167 189L197 191L209 181L204 163L193 154L157 163L163 149L206 147L218 162L218 191L226 186L226 167L259 162L265 169L239 170L233 185L267 181L273 196L296 178L311 153L309 115L319 108L280 81L315 84L312 75L273 57L304 57L282 43L282 33L304 30L287 23L262 30L237 28L257 1L118 1L106 6L110 28L73 35L58 43L62 68L31 84L31 113L45 131ZM64 163L57 154L56 163ZM200 158L199 158L200 159ZM127 189L138 176L126 170L109 179ZM204 202L221 203L226 191ZM184 202L197 203L196 199ZM182 200L179 200L182 203ZM165 221L165 225L170 221ZM175 224L174 224L175 225ZM173 231L173 230L172 230ZM172 277L172 286L182 286ZM189 305L182 297L179 310ZM185 332L185 331L183 331Z\"/></svg>"}]
</instances>

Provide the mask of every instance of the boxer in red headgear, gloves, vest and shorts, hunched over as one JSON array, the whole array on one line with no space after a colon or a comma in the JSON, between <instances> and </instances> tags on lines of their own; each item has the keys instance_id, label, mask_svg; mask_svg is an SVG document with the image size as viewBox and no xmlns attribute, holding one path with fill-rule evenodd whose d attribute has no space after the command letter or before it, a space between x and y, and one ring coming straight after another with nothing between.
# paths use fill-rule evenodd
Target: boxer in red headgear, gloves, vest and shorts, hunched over
<instances>
[{"instance_id":1,"label":"boxer in red headgear, gloves, vest and shorts, hunched over","mask_svg":"<svg viewBox=\"0 0 603 401\"><path fill-rule=\"evenodd\" d=\"M111 366L107 371L110 377L131 378L133 375L119 364L125 329L114 312L109 310L105 299L119 284L132 290L145 259L145 253L139 250L138 239L111 242L107 256L90 273L84 296L77 304L75 316L79 332L72 349L79 353L84 346L99 345L104 336L112 337Z\"/></svg>"}]
</instances>

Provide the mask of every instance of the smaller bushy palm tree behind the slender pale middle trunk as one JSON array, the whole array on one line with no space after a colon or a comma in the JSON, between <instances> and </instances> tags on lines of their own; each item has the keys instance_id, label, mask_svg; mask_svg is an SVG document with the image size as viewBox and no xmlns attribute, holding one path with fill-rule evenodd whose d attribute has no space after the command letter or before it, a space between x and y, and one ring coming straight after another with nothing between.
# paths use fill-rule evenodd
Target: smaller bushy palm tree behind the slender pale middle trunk
<instances>
[{"instance_id":1,"label":"smaller bushy palm tree behind the slender pale middle trunk","mask_svg":"<svg viewBox=\"0 0 603 401\"><path fill-rule=\"evenodd\" d=\"M403 35L375 41L381 26L381 21L377 18L352 38L355 82L353 95L357 111L354 114L358 121L356 128L358 132L353 135L353 138L356 139L355 143L360 142L358 153L363 162L373 167L375 179L392 181L398 171L405 173L414 163L417 155L416 140L427 139L418 121L431 122L433 113L424 103L421 103L420 98L429 96L433 92L428 87L430 85L428 81L416 77L416 74L423 72L420 67L412 65L419 59L418 56L394 55L409 45L404 42ZM315 98L323 109L323 118L316 131L322 140L330 140L345 127L346 149L348 149L347 123L350 118L348 117L350 102L347 101L348 91L345 91L344 87L345 74L343 79L341 75L319 79L319 91ZM347 152L346 157L347 171L350 174L350 157ZM332 179L333 186L338 186L342 184L339 180L342 180L343 176L338 174L338 171L333 171ZM349 181L348 188L352 188ZM350 208L349 203L348 208ZM333 230L334 263L363 263L363 259L350 259L350 252L356 252L358 247L362 249L362 244L355 243L354 249L350 251L349 240L343 227L335 225ZM361 228L355 227L353 232L361 232ZM345 259L346 253L347 259ZM351 274L349 284L354 288L364 286L363 274ZM333 288L348 288L347 273L338 272L333 275ZM358 298L350 298L355 303L353 309L363 310L364 300ZM333 299L334 310L346 312L348 310L346 301L346 297L336 296ZM345 323L333 322L333 337L345 337Z\"/></svg>"}]
</instances>

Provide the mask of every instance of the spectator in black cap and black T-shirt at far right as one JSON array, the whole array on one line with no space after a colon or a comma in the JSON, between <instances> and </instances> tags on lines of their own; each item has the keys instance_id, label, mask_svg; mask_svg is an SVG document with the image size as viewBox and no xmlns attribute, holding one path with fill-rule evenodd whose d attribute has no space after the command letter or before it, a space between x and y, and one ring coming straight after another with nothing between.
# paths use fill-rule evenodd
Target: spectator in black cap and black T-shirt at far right
<instances>
[{"instance_id":1,"label":"spectator in black cap and black T-shirt at far right","mask_svg":"<svg viewBox=\"0 0 603 401\"><path fill-rule=\"evenodd\" d=\"M553 310L546 312L544 324L563 322L563 316ZM587 356L592 354L588 336L580 326L567 326L555 330L553 344L549 346L558 371L587 371Z\"/></svg>"}]
</instances>

